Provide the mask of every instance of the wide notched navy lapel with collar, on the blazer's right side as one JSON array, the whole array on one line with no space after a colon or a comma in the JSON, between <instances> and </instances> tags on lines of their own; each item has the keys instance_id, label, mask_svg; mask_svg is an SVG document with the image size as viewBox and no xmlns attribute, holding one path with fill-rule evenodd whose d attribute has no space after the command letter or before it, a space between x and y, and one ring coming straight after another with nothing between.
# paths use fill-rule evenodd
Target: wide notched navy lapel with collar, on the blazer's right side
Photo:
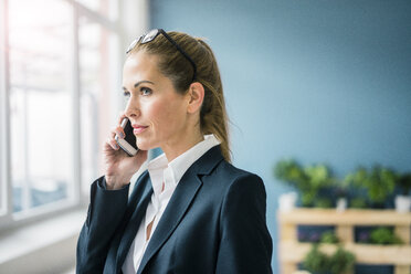
<instances>
[{"instance_id":1,"label":"wide notched navy lapel with collar, on the blazer's right side","mask_svg":"<svg viewBox=\"0 0 411 274\"><path fill-rule=\"evenodd\" d=\"M209 175L222 159L220 146L212 147L182 176L157 229L151 235L151 240L143 256L137 274L143 273L149 260L165 244L181 222L196 193L202 186L199 175Z\"/></svg>"}]
</instances>

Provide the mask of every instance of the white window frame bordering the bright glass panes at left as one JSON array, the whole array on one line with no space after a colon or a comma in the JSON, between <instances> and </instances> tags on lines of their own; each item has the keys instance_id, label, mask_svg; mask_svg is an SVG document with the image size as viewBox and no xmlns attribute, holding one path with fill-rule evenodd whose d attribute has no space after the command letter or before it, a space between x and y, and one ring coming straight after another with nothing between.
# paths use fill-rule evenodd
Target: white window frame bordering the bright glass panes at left
<instances>
[{"instance_id":1,"label":"white window frame bordering the bright glass panes at left","mask_svg":"<svg viewBox=\"0 0 411 274\"><path fill-rule=\"evenodd\" d=\"M28 209L23 212L13 212L12 207L12 180L10 173L11 148L10 148L10 63L9 55L6 49L9 48L8 30L9 30L9 3L10 0L0 1L0 232L6 229L12 229L18 225L41 221L61 213L68 212L82 208L88 203L88 193L82 192L82 161L81 161L81 81L80 81L80 60L78 60L78 22L82 17L87 18L99 24L107 31L116 34L117 44L120 43L119 15L116 21L112 21L108 15L105 17L96 11L89 10L75 0L57 0L64 1L71 6L71 67L70 67L70 97L72 112L72 144L73 158L71 159L71 178L68 188L70 197L50 204L44 204L39 208ZM119 7L120 1L116 2ZM118 8L117 7L117 8ZM117 9L119 11L119 9ZM122 56L119 52L118 61ZM115 55L117 55L115 54ZM115 56L117 57L117 56ZM120 72L120 62L116 62L118 67L114 71ZM120 73L114 75L115 83L118 83ZM119 85L118 85L119 86ZM119 108L118 99L113 101L110 110Z\"/></svg>"}]
</instances>

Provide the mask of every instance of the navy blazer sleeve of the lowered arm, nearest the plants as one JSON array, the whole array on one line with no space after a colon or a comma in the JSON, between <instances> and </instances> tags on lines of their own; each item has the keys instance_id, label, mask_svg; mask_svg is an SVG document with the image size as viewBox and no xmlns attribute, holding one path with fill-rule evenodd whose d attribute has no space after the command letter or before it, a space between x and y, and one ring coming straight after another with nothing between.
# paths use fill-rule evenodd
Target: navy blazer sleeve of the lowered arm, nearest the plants
<instances>
[{"instance_id":1,"label":"navy blazer sleeve of the lowered arm, nearest the plants","mask_svg":"<svg viewBox=\"0 0 411 274\"><path fill-rule=\"evenodd\" d=\"M264 183L255 175L242 176L231 185L220 215L215 273L272 273L265 199Z\"/></svg>"}]
</instances>

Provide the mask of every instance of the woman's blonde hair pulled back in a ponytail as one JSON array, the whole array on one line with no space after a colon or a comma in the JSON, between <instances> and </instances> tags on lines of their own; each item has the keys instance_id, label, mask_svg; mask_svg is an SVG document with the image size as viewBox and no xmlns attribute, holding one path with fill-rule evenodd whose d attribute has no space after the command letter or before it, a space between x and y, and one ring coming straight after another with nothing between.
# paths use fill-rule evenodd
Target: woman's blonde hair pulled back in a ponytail
<instances>
[{"instance_id":1,"label":"woman's blonde hair pulled back in a ponytail","mask_svg":"<svg viewBox=\"0 0 411 274\"><path fill-rule=\"evenodd\" d=\"M190 62L162 34L148 43L137 43L129 52L145 51L159 56L158 68L171 80L178 93L185 94L192 82L199 82L204 87L204 99L200 110L200 129L203 135L213 134L221 141L221 151L226 161L231 161L228 115L220 70L211 48L199 38L192 38L181 32L167 32L176 43L192 59Z\"/></svg>"}]
</instances>

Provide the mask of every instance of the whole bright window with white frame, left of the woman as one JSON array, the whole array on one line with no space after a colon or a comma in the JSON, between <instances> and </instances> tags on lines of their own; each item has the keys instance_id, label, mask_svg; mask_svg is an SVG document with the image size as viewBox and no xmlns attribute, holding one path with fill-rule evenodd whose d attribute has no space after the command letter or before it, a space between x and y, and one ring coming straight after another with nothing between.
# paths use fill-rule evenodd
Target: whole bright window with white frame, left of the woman
<instances>
[{"instance_id":1,"label":"whole bright window with white frame, left of the woman","mask_svg":"<svg viewBox=\"0 0 411 274\"><path fill-rule=\"evenodd\" d=\"M77 207L101 173L118 102L116 4L1 1L0 226Z\"/></svg>"}]
</instances>

